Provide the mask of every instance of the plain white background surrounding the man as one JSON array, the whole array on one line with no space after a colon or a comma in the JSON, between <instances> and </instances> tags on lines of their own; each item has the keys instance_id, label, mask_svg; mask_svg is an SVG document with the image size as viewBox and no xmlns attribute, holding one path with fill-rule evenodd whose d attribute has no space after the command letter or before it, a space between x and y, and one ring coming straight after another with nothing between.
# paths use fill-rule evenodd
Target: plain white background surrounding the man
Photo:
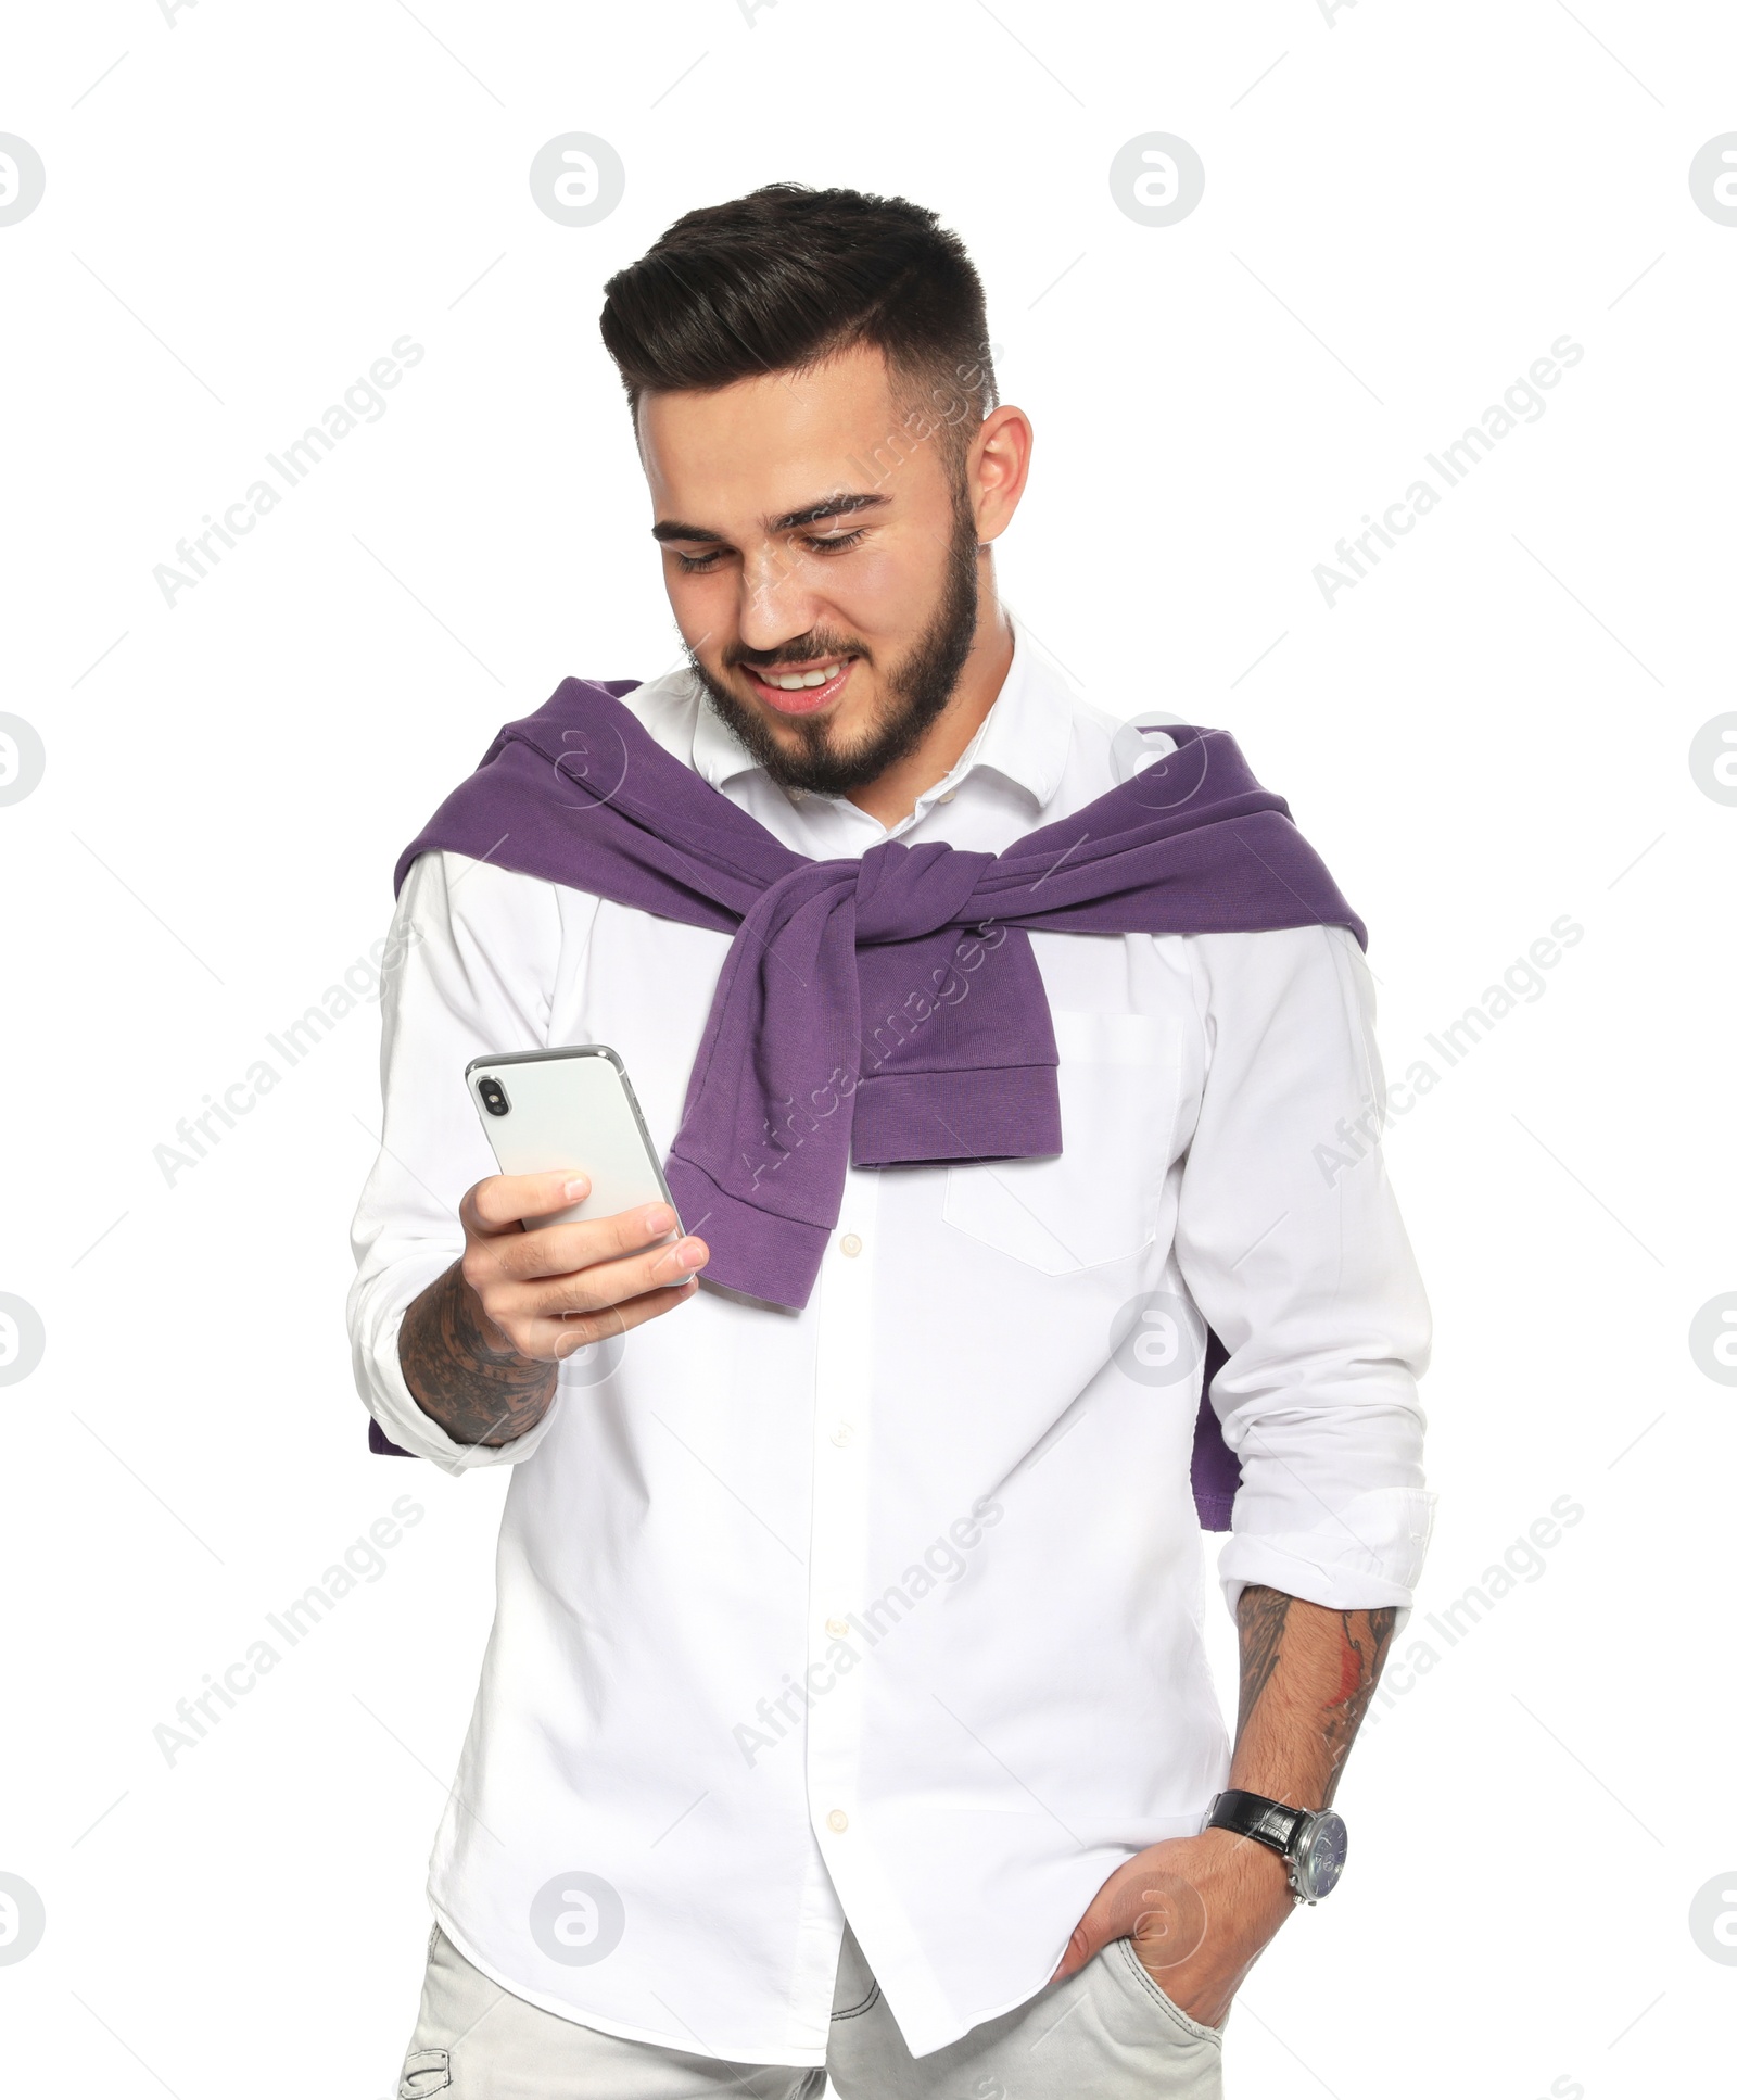
<instances>
[{"instance_id":1,"label":"plain white background surrounding the man","mask_svg":"<svg viewBox=\"0 0 1737 2100\"><path fill-rule=\"evenodd\" d=\"M1376 1707L1346 1882L1241 1993L1229 2090L1712 2090L1737 1392L1689 1323L1737 1287L1737 808L1689 743L1737 708L1737 227L1689 162L1737 130L1729 10L86 0L17 10L0 82L48 170L0 227L0 710L46 746L0 808L0 1289L46 1323L0 1390L0 1871L48 1917L0 1966L8 2092L395 2085L504 1474L365 1451L376 1010L172 1186L153 1147L384 932L502 720L672 662L601 284L781 176L964 235L1038 426L1008 601L1094 701L1229 727L1292 800L1393 1073L1586 930L1388 1134L1439 1319L1399 1653L1586 1514ZM567 130L628 170L588 229L527 187ZM1180 225L1111 197L1149 130L1206 164ZM153 565L403 334L386 414L170 609ZM1563 334L1546 414L1327 607L1334 542ZM386 1573L166 1764L176 1699L405 1491Z\"/></svg>"}]
</instances>

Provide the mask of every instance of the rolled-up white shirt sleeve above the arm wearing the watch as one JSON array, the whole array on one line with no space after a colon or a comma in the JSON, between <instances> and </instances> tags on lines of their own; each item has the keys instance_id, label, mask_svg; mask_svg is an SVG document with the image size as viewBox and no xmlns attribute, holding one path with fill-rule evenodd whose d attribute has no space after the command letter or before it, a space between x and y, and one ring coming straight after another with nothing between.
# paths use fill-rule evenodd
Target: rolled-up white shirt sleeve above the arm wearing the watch
<instances>
[{"instance_id":1,"label":"rolled-up white shirt sleeve above the arm wearing the watch","mask_svg":"<svg viewBox=\"0 0 1737 2100\"><path fill-rule=\"evenodd\" d=\"M1409 1611L1435 1497L1418 1378L1430 1315L1378 1132L1363 956L1338 926L1189 943L1206 1035L1176 1260L1229 1350L1212 1386L1241 1462L1218 1558L1332 1609Z\"/></svg>"}]
</instances>

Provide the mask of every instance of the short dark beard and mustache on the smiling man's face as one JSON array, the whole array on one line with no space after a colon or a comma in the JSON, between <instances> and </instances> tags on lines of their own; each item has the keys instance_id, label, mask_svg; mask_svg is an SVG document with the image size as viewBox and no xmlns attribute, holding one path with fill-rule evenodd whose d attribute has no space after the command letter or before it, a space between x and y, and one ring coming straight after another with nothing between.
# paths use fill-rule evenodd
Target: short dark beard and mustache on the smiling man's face
<instances>
[{"instance_id":1,"label":"short dark beard and mustache on the smiling man's face","mask_svg":"<svg viewBox=\"0 0 1737 2100\"><path fill-rule=\"evenodd\" d=\"M832 746L830 722L790 718L800 746L786 750L762 716L720 685L689 649L687 662L706 687L723 724L748 756L777 781L779 788L802 788L809 794L846 796L878 781L888 766L909 758L954 697L960 672L977 638L977 521L964 504L954 506L954 538L947 548L947 571L941 607L903 664L886 674L886 706L870 731L867 743L840 752ZM786 649L783 655L823 655L825 651Z\"/></svg>"}]
</instances>

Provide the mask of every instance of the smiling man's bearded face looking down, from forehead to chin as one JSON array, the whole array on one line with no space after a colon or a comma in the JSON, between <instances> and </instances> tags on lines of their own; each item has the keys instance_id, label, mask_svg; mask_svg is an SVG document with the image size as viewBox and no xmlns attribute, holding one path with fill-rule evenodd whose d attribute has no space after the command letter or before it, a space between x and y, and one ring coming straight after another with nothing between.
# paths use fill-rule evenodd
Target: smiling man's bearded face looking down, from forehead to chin
<instances>
[{"instance_id":1,"label":"smiling man's bearded face looking down, from forehead to chin","mask_svg":"<svg viewBox=\"0 0 1737 2100\"><path fill-rule=\"evenodd\" d=\"M748 752L819 794L905 758L977 632L977 519L939 416L851 351L649 395L639 441L676 626Z\"/></svg>"}]
</instances>

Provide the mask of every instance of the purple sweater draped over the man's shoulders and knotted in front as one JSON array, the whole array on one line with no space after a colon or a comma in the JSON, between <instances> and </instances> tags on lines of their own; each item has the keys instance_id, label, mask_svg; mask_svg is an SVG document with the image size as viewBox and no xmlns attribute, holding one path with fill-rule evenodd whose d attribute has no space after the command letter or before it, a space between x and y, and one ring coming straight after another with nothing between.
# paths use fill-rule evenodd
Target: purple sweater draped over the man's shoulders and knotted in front
<instances>
[{"instance_id":1,"label":"purple sweater draped over the man's shoulders and knotted in front","mask_svg":"<svg viewBox=\"0 0 1737 2100\"><path fill-rule=\"evenodd\" d=\"M1252 932L1361 920L1222 731L1006 853L886 840L809 861L567 678L508 722L405 846L452 850L733 934L666 1174L706 1275L809 1300L844 1170L1061 1153L1050 1008L1027 932ZM1206 1388L1225 1361L1208 1342ZM374 1449L395 1449L374 1432ZM1237 1464L1206 1396L1193 1489L1229 1527Z\"/></svg>"}]
</instances>

